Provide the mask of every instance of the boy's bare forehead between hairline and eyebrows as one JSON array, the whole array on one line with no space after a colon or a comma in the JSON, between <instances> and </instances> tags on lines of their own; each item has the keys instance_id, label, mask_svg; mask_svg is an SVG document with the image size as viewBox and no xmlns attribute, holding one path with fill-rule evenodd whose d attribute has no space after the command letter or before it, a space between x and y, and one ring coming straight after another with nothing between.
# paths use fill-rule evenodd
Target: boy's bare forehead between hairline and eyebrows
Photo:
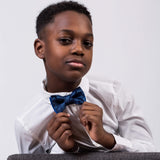
<instances>
[{"instance_id":1,"label":"boy's bare forehead between hairline and eyebrows","mask_svg":"<svg viewBox=\"0 0 160 160\"><path fill-rule=\"evenodd\" d=\"M79 34L91 34L92 24L85 14L65 11L55 16L53 23L45 27L45 33L57 33L61 30L72 30Z\"/></svg>"}]
</instances>

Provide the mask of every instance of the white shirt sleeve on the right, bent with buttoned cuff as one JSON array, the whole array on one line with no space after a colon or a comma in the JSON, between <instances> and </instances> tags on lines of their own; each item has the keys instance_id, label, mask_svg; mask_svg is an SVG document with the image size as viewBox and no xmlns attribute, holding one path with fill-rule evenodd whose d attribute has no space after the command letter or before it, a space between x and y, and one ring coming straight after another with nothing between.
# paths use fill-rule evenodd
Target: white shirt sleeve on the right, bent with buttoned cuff
<instances>
[{"instance_id":1,"label":"white shirt sleeve on the right, bent with buttoned cuff","mask_svg":"<svg viewBox=\"0 0 160 160\"><path fill-rule=\"evenodd\" d=\"M116 145L113 151L153 152L155 147L151 131L133 96L120 89L115 101L118 118L118 135L113 135Z\"/></svg>"}]
</instances>

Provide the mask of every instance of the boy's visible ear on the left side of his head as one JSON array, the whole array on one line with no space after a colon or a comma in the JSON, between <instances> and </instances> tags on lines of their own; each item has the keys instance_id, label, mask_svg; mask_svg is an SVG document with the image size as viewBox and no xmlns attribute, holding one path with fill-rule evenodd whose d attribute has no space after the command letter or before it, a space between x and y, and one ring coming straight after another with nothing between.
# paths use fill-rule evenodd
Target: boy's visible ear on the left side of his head
<instances>
[{"instance_id":1,"label":"boy's visible ear on the left side of his head","mask_svg":"<svg viewBox=\"0 0 160 160\"><path fill-rule=\"evenodd\" d=\"M37 57L39 57L40 59L44 59L45 57L45 43L40 40L39 38L37 38L34 41L34 51L37 55Z\"/></svg>"}]
</instances>

